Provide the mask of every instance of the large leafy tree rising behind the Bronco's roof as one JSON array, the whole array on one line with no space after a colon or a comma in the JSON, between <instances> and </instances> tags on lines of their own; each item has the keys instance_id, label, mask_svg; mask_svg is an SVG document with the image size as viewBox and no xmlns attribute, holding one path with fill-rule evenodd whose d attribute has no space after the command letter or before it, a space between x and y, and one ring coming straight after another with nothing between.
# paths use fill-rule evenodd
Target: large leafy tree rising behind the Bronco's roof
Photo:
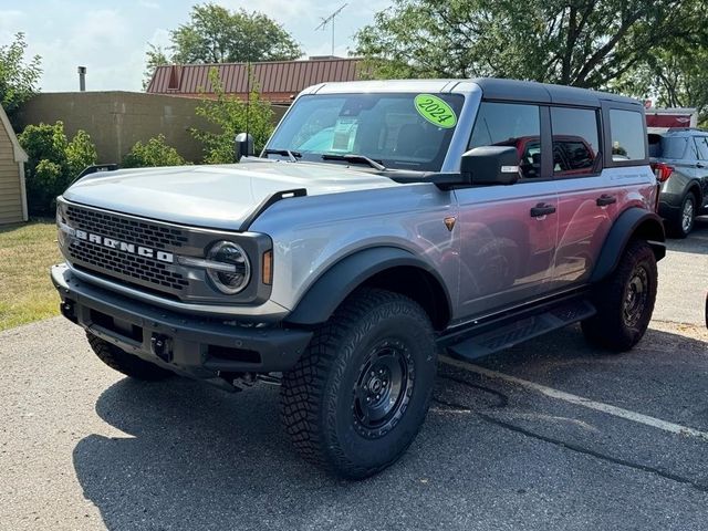
<instances>
[{"instance_id":1,"label":"large leafy tree rising behind the Bronco's roof","mask_svg":"<svg viewBox=\"0 0 708 531\"><path fill-rule=\"evenodd\" d=\"M356 34L375 76L607 87L706 31L707 0L394 0Z\"/></svg>"}]
</instances>

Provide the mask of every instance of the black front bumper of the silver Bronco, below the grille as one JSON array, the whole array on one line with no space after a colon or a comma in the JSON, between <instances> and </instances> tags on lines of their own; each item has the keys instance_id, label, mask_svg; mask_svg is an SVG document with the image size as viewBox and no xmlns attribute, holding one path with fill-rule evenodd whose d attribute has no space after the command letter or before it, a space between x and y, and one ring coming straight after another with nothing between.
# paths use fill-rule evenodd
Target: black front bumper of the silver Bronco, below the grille
<instances>
[{"instance_id":1,"label":"black front bumper of the silver Bronco, below the grille","mask_svg":"<svg viewBox=\"0 0 708 531\"><path fill-rule=\"evenodd\" d=\"M80 280L65 264L52 267L51 275L66 319L125 352L200 379L288 371L312 337L306 330L170 312Z\"/></svg>"}]
</instances>

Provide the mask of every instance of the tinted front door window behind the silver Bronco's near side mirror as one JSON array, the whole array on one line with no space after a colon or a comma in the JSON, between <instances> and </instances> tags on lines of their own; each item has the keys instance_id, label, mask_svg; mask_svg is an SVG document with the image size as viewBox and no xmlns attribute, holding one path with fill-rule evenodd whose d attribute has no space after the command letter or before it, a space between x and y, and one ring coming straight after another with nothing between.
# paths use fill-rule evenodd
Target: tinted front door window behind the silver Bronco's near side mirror
<instances>
[{"instance_id":1,"label":"tinted front door window behind the silver Bronco's near side mirror","mask_svg":"<svg viewBox=\"0 0 708 531\"><path fill-rule=\"evenodd\" d=\"M511 146L525 179L541 174L541 117L538 105L482 102L469 147Z\"/></svg>"}]
</instances>

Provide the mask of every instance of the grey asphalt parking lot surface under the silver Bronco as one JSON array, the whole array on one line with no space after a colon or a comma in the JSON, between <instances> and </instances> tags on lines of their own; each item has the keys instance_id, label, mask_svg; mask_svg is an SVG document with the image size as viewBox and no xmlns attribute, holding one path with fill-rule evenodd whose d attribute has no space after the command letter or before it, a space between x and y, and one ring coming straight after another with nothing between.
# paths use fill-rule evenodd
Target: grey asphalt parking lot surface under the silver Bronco
<instances>
[{"instance_id":1,"label":"grey asphalt parking lot surface under the silver Bronco","mask_svg":"<svg viewBox=\"0 0 708 531\"><path fill-rule=\"evenodd\" d=\"M444 360L419 437L361 482L296 457L274 387L132 382L61 319L0 333L0 529L708 529L708 221L659 274L628 354L570 327Z\"/></svg>"}]
</instances>

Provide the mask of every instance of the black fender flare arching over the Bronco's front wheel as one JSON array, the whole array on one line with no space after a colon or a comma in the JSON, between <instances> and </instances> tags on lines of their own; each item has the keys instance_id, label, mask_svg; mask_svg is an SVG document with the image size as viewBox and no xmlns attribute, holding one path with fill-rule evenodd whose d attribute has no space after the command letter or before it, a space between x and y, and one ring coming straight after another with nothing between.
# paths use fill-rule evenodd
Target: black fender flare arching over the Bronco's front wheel
<instances>
[{"instance_id":1,"label":"black fender flare arching over the Bronco's front wheel","mask_svg":"<svg viewBox=\"0 0 708 531\"><path fill-rule=\"evenodd\" d=\"M435 268L404 249L374 247L347 254L331 266L308 289L284 321L295 325L324 323L356 288L376 273L396 267L413 267L430 273L445 293L451 315L450 294Z\"/></svg>"}]
</instances>

